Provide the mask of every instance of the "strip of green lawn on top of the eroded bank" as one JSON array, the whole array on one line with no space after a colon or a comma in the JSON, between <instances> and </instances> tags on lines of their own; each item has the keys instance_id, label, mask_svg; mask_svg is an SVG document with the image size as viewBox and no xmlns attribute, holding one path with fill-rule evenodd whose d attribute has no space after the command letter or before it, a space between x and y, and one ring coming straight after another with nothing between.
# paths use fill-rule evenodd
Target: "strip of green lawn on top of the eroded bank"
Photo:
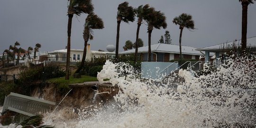
<instances>
[{"instance_id":1,"label":"strip of green lawn on top of the eroded bank","mask_svg":"<svg viewBox=\"0 0 256 128\"><path fill-rule=\"evenodd\" d=\"M70 76L69 80L65 80L65 76L64 76L64 77L49 79L46 81L53 82L53 83L57 84L58 91L61 91L64 93L66 91L69 91L69 87L68 87L69 84L98 81L98 79L97 79L97 77L82 75L82 77L79 79L73 78L72 76Z\"/></svg>"}]
</instances>

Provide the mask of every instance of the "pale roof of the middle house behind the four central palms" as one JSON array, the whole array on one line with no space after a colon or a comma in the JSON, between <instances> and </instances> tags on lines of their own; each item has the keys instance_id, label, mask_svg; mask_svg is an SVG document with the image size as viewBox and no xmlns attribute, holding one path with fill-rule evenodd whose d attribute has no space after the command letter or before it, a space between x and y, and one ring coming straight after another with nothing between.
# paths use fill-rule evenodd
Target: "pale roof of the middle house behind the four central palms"
<instances>
[{"instance_id":1,"label":"pale roof of the middle house behind the four central palms","mask_svg":"<svg viewBox=\"0 0 256 128\"><path fill-rule=\"evenodd\" d=\"M196 48L192 46L182 46L182 53L188 54L188 55L204 55L203 53L201 53L200 51L196 51L195 49ZM148 46L143 46L138 48L138 53L147 53L147 52L148 52ZM180 46L158 43L155 45L151 45L151 52L180 54ZM135 53L135 49L124 51L124 52L121 52L120 54L132 54L132 53Z\"/></svg>"}]
</instances>

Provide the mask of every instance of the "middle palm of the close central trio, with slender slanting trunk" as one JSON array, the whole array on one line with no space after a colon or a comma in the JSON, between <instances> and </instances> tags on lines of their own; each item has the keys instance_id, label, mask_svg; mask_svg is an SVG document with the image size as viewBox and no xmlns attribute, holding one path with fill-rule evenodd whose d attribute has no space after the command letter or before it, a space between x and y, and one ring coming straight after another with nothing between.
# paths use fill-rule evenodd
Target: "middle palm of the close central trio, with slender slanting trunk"
<instances>
[{"instance_id":1,"label":"middle palm of the close central trio, with slender slanting trunk","mask_svg":"<svg viewBox=\"0 0 256 128\"><path fill-rule=\"evenodd\" d=\"M137 54L138 54L138 36L139 36L139 28L142 24L142 21L144 17L150 12L150 7L148 4L146 5L140 5L138 8L134 9L134 12L137 16L137 32L136 32L136 42L135 42L135 57L134 57L134 62L137 62Z\"/></svg>"}]
</instances>

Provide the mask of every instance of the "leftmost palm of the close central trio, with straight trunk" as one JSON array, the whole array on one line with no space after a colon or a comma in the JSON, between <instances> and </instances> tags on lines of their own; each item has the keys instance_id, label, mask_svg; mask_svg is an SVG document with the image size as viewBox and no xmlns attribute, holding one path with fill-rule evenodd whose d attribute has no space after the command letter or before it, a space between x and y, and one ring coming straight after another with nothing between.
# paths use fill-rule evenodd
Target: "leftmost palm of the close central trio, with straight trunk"
<instances>
[{"instance_id":1,"label":"leftmost palm of the close central trio, with straight trunk","mask_svg":"<svg viewBox=\"0 0 256 128\"><path fill-rule=\"evenodd\" d=\"M128 2L125 1L118 6L118 13L117 13L117 40L116 40L116 58L118 58L118 50L119 50L119 30L120 30L120 23L124 21L128 23L129 21L133 22L135 13L131 6L128 6Z\"/></svg>"}]
</instances>

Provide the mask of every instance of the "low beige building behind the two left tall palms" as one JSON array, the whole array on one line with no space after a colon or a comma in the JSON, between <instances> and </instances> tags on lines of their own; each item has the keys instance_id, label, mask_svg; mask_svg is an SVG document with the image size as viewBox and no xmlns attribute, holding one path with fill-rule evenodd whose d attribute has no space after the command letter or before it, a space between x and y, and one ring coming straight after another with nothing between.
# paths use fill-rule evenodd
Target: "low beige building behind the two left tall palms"
<instances>
[{"instance_id":1,"label":"low beige building behind the two left tall palms","mask_svg":"<svg viewBox=\"0 0 256 128\"><path fill-rule=\"evenodd\" d=\"M83 49L70 49L70 61L79 62L82 60ZM91 60L94 58L112 58L115 56L114 52L100 52L91 51L90 44L87 45L86 60ZM67 49L55 50L53 52L48 52L48 61L66 61Z\"/></svg>"}]
</instances>

